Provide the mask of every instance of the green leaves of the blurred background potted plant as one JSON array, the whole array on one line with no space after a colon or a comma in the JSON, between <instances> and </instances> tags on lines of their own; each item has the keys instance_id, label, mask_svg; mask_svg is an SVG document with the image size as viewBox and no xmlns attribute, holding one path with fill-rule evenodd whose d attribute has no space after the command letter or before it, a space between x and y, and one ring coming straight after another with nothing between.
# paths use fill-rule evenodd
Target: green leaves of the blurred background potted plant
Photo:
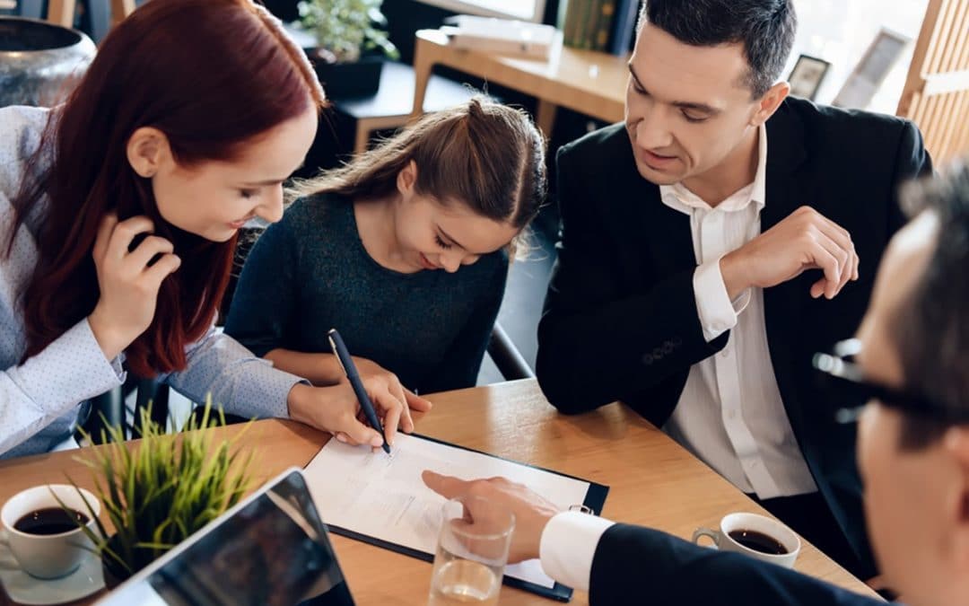
<instances>
[{"instance_id":1,"label":"green leaves of the blurred background potted plant","mask_svg":"<svg viewBox=\"0 0 969 606\"><path fill-rule=\"evenodd\" d=\"M378 48L391 59L399 56L387 37L383 0L303 0L298 4L299 25L312 33L320 48L336 61L356 61L360 52Z\"/></svg>"}]
</instances>

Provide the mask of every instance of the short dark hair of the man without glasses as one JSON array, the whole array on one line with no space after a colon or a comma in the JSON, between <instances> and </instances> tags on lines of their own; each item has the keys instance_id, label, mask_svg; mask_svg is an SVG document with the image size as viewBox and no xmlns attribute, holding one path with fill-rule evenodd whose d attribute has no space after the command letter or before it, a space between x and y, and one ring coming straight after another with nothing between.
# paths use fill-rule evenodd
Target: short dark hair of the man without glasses
<instances>
[{"instance_id":1,"label":"short dark hair of the man without glasses","mask_svg":"<svg viewBox=\"0 0 969 606\"><path fill-rule=\"evenodd\" d=\"M694 47L743 44L755 99L780 78L797 30L793 0L646 0L637 31L645 21Z\"/></svg>"}]
</instances>

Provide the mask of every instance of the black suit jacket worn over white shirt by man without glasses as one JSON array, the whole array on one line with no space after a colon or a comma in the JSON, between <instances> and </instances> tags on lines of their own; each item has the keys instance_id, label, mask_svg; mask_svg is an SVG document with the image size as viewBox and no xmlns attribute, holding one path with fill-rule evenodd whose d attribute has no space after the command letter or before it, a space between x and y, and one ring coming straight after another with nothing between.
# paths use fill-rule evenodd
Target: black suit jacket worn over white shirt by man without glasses
<instances>
[{"instance_id":1,"label":"black suit jacket worn over white shirt by man without glasses","mask_svg":"<svg viewBox=\"0 0 969 606\"><path fill-rule=\"evenodd\" d=\"M766 289L764 300L770 359L801 452L870 564L855 430L831 422L837 402L817 394L811 357L857 330L882 253L905 222L898 184L931 173L931 161L911 122L799 99L785 101L766 131L762 232L815 207L851 233L860 257L860 279L832 301L810 297L818 271ZM622 124L563 146L557 161L562 231L539 325L539 383L562 412L619 399L662 427L690 367L730 337L703 337L690 217L639 174Z\"/></svg>"}]
</instances>

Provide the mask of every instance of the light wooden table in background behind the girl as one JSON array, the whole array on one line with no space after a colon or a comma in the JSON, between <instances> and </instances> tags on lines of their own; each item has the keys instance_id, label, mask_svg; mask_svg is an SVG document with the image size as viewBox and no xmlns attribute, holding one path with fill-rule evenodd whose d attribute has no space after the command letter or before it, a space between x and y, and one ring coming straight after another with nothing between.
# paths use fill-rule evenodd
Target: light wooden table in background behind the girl
<instances>
[{"instance_id":1,"label":"light wooden table in background behind the girl","mask_svg":"<svg viewBox=\"0 0 969 606\"><path fill-rule=\"evenodd\" d=\"M413 116L422 113L431 69L444 65L536 97L536 121L547 138L558 107L618 122L625 112L628 61L629 57L569 47L557 48L547 61L517 59L454 48L441 31L422 29L414 48Z\"/></svg>"}]
</instances>

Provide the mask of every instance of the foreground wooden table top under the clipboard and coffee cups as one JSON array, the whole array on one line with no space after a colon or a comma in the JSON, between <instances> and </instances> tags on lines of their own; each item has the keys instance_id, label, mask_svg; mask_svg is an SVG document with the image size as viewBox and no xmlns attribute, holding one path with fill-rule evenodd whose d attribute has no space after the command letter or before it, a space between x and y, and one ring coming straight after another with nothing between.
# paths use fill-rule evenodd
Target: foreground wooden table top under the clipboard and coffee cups
<instances>
[{"instance_id":1,"label":"foreground wooden table top under the clipboard and coffee cups","mask_svg":"<svg viewBox=\"0 0 969 606\"><path fill-rule=\"evenodd\" d=\"M622 522L654 526L689 538L697 526L716 527L732 511L767 514L620 404L575 417L559 415L525 379L484 388L430 396L434 410L418 421L418 431L516 461L553 468L610 486L603 515ZM227 437L239 426L218 430ZM256 423L244 443L258 448L259 479L291 465L305 465L328 435L289 421ZM62 452L0 463L0 501L38 484L62 482L70 474L81 486L90 473ZM384 606L426 603L429 563L341 536L332 536L340 564L357 603ZM812 545L804 542L797 570L870 596L876 594ZM501 604L551 602L503 588ZM576 592L574 604L588 603Z\"/></svg>"}]
</instances>

